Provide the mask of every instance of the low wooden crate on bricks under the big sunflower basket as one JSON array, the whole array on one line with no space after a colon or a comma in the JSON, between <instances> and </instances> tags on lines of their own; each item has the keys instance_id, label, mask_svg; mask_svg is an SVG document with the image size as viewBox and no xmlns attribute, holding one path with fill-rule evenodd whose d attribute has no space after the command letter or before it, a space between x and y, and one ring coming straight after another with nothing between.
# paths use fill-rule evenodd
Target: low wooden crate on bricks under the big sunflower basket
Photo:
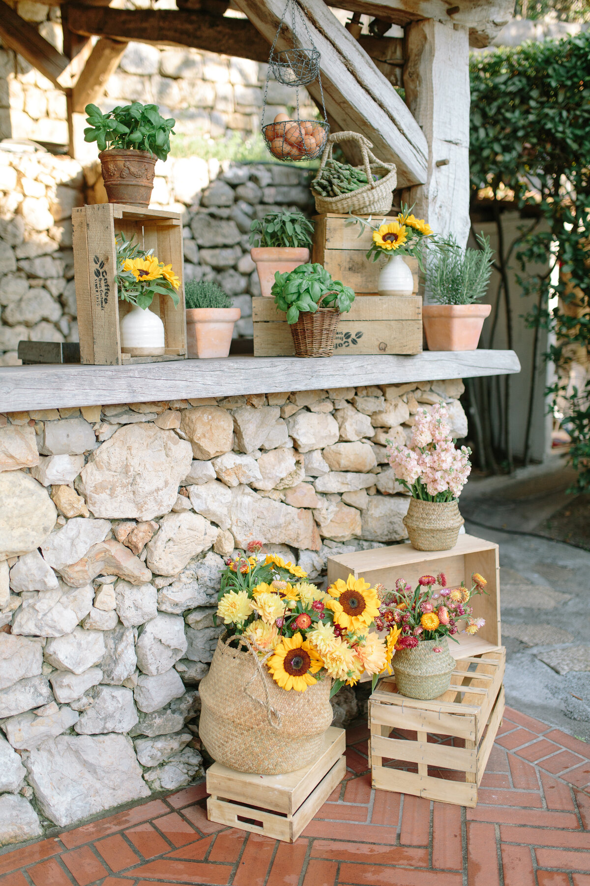
<instances>
[{"instance_id":1,"label":"low wooden crate on bricks under the big sunflower basket","mask_svg":"<svg viewBox=\"0 0 590 886\"><path fill-rule=\"evenodd\" d=\"M230 828L295 843L346 773L344 729L330 727L318 758L284 775L238 773L219 763L207 770L207 818Z\"/></svg>"}]
</instances>

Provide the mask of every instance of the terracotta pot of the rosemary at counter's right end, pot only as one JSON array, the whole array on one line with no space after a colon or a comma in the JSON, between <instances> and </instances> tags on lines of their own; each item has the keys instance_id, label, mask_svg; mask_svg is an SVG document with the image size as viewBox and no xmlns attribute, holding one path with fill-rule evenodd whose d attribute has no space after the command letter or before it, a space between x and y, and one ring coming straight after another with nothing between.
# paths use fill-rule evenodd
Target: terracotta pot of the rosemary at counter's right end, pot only
<instances>
[{"instance_id":1,"label":"terracotta pot of the rosemary at counter's right end, pot only","mask_svg":"<svg viewBox=\"0 0 590 886\"><path fill-rule=\"evenodd\" d=\"M422 322L429 351L475 351L491 305L425 305Z\"/></svg>"}]
</instances>

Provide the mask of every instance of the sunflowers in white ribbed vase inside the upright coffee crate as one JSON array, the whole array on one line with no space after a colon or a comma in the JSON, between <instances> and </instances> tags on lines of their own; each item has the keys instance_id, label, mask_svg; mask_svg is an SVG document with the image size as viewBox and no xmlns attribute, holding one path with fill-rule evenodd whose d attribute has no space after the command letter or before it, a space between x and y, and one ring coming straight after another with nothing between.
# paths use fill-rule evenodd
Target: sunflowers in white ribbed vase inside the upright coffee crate
<instances>
[{"instance_id":1,"label":"sunflowers in white ribbed vase inside the upright coffee crate","mask_svg":"<svg viewBox=\"0 0 590 886\"><path fill-rule=\"evenodd\" d=\"M171 298L178 307L180 280L172 265L157 259L153 249L146 250L118 234L117 244L117 292L119 299L131 305L131 310L121 316L119 329L121 351L132 357L157 357L165 354L164 323L155 311L150 311L154 298Z\"/></svg>"}]
</instances>

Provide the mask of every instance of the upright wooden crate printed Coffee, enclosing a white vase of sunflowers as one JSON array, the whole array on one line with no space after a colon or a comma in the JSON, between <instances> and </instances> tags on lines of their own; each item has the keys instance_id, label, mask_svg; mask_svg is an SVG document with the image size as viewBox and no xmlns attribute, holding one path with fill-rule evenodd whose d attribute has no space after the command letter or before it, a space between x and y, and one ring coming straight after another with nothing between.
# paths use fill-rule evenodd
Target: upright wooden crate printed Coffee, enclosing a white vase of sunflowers
<instances>
[{"instance_id":1,"label":"upright wooden crate printed Coffee, enclosing a white vase of sunflowers","mask_svg":"<svg viewBox=\"0 0 590 886\"><path fill-rule=\"evenodd\" d=\"M187 326L184 301L184 264L180 213L141 209L119 203L100 203L73 209L73 265L80 330L80 362L120 366L185 360ZM121 354L119 319L131 305L117 298L115 236L135 235L135 242L152 249L160 261L172 264L180 278L180 305L168 295L156 295L149 310L164 323L165 354L132 357Z\"/></svg>"}]
</instances>

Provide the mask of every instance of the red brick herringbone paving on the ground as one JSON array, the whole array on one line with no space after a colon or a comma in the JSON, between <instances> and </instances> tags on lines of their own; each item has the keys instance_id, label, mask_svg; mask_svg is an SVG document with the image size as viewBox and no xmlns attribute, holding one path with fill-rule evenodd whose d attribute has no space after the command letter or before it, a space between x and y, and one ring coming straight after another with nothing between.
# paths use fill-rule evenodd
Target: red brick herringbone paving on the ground
<instances>
[{"instance_id":1,"label":"red brick herringbone paving on the ground","mask_svg":"<svg viewBox=\"0 0 590 886\"><path fill-rule=\"evenodd\" d=\"M199 784L0 852L0 886L590 886L584 742L507 709L464 809L372 790L366 738L294 845L208 821Z\"/></svg>"}]
</instances>

